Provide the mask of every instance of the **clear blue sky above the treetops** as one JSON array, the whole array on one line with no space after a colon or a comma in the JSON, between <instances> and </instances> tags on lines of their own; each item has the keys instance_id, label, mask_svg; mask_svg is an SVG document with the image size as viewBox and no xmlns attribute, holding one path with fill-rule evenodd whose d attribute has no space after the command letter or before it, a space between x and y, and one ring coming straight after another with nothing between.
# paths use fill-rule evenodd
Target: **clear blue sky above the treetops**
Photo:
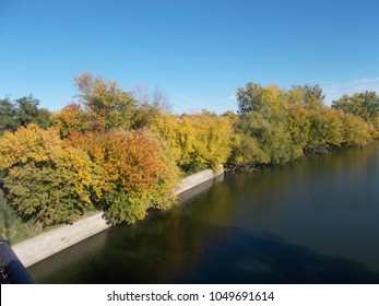
<instances>
[{"instance_id":1,"label":"clear blue sky above the treetops","mask_svg":"<svg viewBox=\"0 0 379 306\"><path fill-rule=\"evenodd\" d=\"M247 82L379 93L379 1L0 0L0 98L58 110L84 71L175 113L236 110Z\"/></svg>"}]
</instances>

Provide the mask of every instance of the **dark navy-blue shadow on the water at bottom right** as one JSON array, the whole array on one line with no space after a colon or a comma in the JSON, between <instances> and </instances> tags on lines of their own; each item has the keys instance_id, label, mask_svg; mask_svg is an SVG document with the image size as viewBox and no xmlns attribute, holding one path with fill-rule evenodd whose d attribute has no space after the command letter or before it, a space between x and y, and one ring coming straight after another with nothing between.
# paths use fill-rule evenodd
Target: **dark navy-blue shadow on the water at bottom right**
<instances>
[{"instance_id":1,"label":"dark navy-blue shadow on the water at bottom right","mask_svg":"<svg viewBox=\"0 0 379 306\"><path fill-rule=\"evenodd\" d=\"M215 231L220 231L215 229ZM223 231L223 229L222 229ZM183 283L348 284L379 283L379 273L344 258L329 257L272 235L229 228L214 242L197 273ZM220 233L217 234L220 235Z\"/></svg>"}]
</instances>

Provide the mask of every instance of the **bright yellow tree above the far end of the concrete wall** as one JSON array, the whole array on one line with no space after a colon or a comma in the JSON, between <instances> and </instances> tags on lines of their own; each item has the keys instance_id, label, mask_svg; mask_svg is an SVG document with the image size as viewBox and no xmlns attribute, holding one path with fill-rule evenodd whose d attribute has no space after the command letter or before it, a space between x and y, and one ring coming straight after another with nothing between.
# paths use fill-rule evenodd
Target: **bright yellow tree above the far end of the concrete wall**
<instances>
[{"instance_id":1,"label":"bright yellow tree above the far end of the concrete wall","mask_svg":"<svg viewBox=\"0 0 379 306\"><path fill-rule=\"evenodd\" d=\"M226 163L235 141L232 120L226 116L161 114L152 129L169 143L186 173Z\"/></svg>"}]
</instances>

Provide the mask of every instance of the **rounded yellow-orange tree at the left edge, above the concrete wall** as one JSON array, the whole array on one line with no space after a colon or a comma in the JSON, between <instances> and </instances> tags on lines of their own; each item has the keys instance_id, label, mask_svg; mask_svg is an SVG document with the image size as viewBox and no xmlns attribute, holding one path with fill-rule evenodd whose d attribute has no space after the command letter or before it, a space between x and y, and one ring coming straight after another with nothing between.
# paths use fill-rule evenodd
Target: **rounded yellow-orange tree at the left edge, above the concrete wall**
<instances>
[{"instance_id":1,"label":"rounded yellow-orange tree at the left edge, above the concrete wall","mask_svg":"<svg viewBox=\"0 0 379 306\"><path fill-rule=\"evenodd\" d=\"M70 223L93 208L99 195L96 167L81 150L67 145L56 129L31 123L0 139L2 188L24 219L44 225Z\"/></svg>"}]
</instances>

